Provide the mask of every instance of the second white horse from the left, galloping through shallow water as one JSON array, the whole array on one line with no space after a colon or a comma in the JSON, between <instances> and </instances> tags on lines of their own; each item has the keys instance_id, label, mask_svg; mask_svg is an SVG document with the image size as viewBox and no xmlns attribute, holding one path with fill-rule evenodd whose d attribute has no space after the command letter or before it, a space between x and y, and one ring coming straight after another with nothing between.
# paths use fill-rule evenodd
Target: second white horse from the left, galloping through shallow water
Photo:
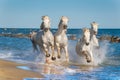
<instances>
[{"instance_id":1,"label":"second white horse from the left, galloping through shallow water","mask_svg":"<svg viewBox=\"0 0 120 80\"><path fill-rule=\"evenodd\" d=\"M60 23L58 25L58 31L54 35L55 40L55 46L57 48L57 57L61 57L61 50L64 49L66 54L66 61L69 61L69 55L68 55L68 38L66 35L67 31L67 24L68 24L68 18L66 16L62 16Z\"/></svg>"}]
</instances>

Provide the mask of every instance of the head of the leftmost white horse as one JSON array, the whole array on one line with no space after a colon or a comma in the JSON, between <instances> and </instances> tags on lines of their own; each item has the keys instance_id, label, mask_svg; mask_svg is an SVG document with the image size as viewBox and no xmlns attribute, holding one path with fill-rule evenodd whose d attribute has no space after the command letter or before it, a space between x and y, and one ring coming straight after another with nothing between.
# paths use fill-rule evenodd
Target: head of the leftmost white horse
<instances>
[{"instance_id":1,"label":"head of the leftmost white horse","mask_svg":"<svg viewBox=\"0 0 120 80\"><path fill-rule=\"evenodd\" d=\"M47 32L50 29L50 18L48 16L42 16L41 30Z\"/></svg>"}]
</instances>

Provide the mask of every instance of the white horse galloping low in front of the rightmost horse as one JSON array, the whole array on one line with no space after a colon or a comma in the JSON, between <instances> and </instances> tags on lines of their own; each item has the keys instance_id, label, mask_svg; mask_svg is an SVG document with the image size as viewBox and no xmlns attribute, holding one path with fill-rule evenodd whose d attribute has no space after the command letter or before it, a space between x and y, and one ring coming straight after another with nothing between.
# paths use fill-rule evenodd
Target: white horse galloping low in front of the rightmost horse
<instances>
[{"instance_id":1,"label":"white horse galloping low in front of the rightmost horse","mask_svg":"<svg viewBox=\"0 0 120 80\"><path fill-rule=\"evenodd\" d=\"M88 63L93 61L93 54L90 46L89 29L83 29L83 36L78 40L76 44L76 52L79 56L84 56Z\"/></svg>"}]
</instances>

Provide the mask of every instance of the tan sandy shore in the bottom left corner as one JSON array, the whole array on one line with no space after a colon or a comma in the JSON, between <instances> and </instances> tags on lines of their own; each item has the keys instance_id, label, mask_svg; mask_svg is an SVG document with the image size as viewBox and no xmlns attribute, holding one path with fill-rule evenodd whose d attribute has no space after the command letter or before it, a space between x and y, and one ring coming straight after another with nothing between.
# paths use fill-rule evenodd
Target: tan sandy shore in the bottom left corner
<instances>
[{"instance_id":1,"label":"tan sandy shore in the bottom left corner","mask_svg":"<svg viewBox=\"0 0 120 80\"><path fill-rule=\"evenodd\" d=\"M0 59L0 80L23 80L24 78L43 77L37 72L16 68L16 66L20 65L22 64Z\"/></svg>"}]
</instances>

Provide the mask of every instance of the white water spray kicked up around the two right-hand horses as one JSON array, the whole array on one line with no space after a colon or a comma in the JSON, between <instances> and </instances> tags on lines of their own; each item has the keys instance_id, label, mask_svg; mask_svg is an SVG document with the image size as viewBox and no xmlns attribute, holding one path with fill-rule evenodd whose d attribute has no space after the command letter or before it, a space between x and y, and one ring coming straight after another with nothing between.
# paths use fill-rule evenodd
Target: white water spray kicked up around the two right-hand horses
<instances>
[{"instance_id":1,"label":"white water spray kicked up around the two right-hand horses","mask_svg":"<svg viewBox=\"0 0 120 80\"><path fill-rule=\"evenodd\" d=\"M94 65L97 66L102 64L106 59L106 54L109 49L109 42L104 41L100 43L100 48L93 48L94 61L92 63L87 63L85 57L77 55L75 51L76 41L69 41L69 55L72 63L79 65Z\"/></svg>"}]
</instances>

